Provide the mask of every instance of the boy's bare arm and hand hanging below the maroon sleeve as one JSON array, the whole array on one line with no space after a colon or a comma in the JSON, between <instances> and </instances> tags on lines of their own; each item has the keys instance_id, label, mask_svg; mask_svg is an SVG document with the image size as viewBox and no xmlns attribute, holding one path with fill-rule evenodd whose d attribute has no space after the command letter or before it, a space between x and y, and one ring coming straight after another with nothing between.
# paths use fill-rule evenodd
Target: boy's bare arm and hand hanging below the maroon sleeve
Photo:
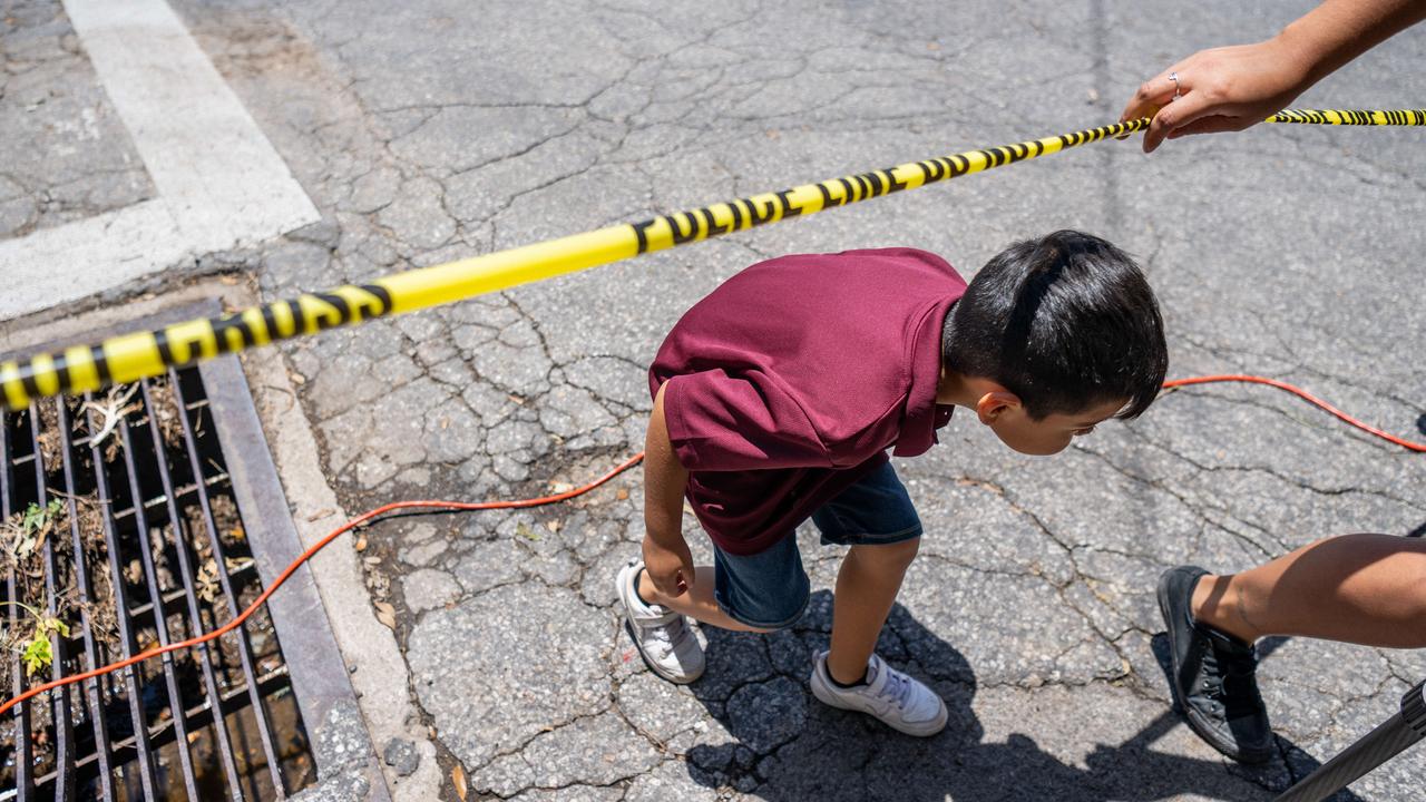
<instances>
[{"instance_id":1,"label":"boy's bare arm and hand hanging below the maroon sleeve","mask_svg":"<svg viewBox=\"0 0 1426 802\"><path fill-rule=\"evenodd\" d=\"M693 581L693 555L683 539L683 491L689 471L679 462L663 418L659 387L643 445L643 562L649 578L666 597L679 597Z\"/></svg>"}]
</instances>

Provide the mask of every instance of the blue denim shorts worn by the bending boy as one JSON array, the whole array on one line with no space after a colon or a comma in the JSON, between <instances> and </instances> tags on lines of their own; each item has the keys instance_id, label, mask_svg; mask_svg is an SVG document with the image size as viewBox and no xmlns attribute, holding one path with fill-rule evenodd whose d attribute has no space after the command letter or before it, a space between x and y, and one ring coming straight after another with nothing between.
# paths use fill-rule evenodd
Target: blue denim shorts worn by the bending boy
<instances>
[{"instance_id":1,"label":"blue denim shorts worn by the bending boy","mask_svg":"<svg viewBox=\"0 0 1426 802\"><path fill-rule=\"evenodd\" d=\"M823 545L887 545L921 537L921 518L887 462L817 508ZM791 626L807 609L809 581L796 532L750 555L713 547L713 598L730 618L759 629Z\"/></svg>"}]
</instances>

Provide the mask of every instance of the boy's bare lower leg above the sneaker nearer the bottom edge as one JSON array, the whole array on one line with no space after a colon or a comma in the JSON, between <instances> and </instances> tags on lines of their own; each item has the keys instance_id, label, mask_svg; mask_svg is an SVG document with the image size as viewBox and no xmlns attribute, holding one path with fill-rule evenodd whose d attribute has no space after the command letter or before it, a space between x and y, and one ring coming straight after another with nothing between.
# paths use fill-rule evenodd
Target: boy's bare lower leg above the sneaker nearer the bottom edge
<instances>
[{"instance_id":1,"label":"boy's bare lower leg above the sneaker nearer the bottom edge","mask_svg":"<svg viewBox=\"0 0 1426 802\"><path fill-rule=\"evenodd\" d=\"M888 545L854 545L837 572L827 671L841 684L861 679L877 636L891 612L901 578L915 559L920 538Z\"/></svg>"}]
</instances>

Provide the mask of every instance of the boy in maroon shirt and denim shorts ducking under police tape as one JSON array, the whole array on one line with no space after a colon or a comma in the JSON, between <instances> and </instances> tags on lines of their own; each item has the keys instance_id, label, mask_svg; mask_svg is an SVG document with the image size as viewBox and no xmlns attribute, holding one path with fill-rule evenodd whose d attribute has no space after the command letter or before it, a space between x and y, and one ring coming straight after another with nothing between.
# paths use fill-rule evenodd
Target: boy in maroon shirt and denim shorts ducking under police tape
<instances>
[{"instance_id":1,"label":"boy in maroon shirt and denim shorts ducking under police tape","mask_svg":"<svg viewBox=\"0 0 1426 802\"><path fill-rule=\"evenodd\" d=\"M954 407L1024 454L1055 454L1154 401L1168 354L1154 293L1122 251L1057 231L1017 243L967 287L944 260L890 248L756 264L699 301L649 370L643 561L619 598L649 666L703 674L684 616L726 629L790 626L809 581L793 531L850 547L831 646L811 691L918 736L941 699L873 648L921 522L886 450L914 457ZM693 567L687 498L713 539Z\"/></svg>"}]
</instances>

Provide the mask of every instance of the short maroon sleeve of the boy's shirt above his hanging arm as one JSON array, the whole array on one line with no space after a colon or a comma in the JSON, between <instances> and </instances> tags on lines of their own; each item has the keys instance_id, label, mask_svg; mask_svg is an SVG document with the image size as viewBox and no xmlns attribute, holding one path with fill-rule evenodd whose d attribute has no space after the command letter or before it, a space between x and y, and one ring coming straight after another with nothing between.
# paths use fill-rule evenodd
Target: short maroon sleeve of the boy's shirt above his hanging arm
<instances>
[{"instance_id":1,"label":"short maroon sleeve of the boy's shirt above his hanging arm","mask_svg":"<svg viewBox=\"0 0 1426 802\"><path fill-rule=\"evenodd\" d=\"M777 381L710 370L669 378L663 417L689 471L831 468L807 414Z\"/></svg>"}]
</instances>

